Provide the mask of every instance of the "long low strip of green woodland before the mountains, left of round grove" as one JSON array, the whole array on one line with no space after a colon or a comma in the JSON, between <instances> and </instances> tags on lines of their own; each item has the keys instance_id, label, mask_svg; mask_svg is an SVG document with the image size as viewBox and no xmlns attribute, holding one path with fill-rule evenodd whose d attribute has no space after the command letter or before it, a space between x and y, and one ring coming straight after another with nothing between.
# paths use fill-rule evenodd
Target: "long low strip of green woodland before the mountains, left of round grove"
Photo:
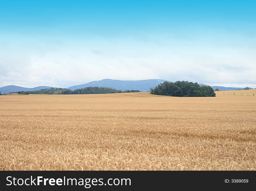
<instances>
[{"instance_id":1,"label":"long low strip of green woodland before the mountains, left of round grove","mask_svg":"<svg viewBox=\"0 0 256 191\"><path fill-rule=\"evenodd\" d=\"M86 87L77 90L69 90L65 88L48 88L41 89L36 91L20 91L12 92L18 94L111 94L111 93L130 93L130 92L140 92L139 90L116 90L113 88L104 88L104 87Z\"/></svg>"}]
</instances>

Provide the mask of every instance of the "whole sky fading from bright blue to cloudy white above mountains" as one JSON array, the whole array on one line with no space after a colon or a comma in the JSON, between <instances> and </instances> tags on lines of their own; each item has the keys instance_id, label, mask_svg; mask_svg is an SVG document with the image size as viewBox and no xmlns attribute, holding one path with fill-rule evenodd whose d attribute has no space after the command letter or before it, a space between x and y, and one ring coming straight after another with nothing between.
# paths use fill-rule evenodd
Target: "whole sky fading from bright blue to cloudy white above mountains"
<instances>
[{"instance_id":1,"label":"whole sky fading from bright blue to cloudy white above mountains","mask_svg":"<svg viewBox=\"0 0 256 191\"><path fill-rule=\"evenodd\" d=\"M0 0L0 87L105 78L256 88L256 1Z\"/></svg>"}]
</instances>

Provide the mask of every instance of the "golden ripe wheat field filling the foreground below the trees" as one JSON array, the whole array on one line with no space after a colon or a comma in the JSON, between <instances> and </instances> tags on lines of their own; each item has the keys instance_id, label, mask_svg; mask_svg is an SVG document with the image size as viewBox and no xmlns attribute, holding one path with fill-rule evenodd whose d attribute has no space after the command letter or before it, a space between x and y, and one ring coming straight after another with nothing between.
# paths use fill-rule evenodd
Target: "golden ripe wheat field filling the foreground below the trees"
<instances>
[{"instance_id":1,"label":"golden ripe wheat field filling the foreground below the trees","mask_svg":"<svg viewBox=\"0 0 256 191\"><path fill-rule=\"evenodd\" d=\"M256 96L0 96L0 170L256 170Z\"/></svg>"}]
</instances>

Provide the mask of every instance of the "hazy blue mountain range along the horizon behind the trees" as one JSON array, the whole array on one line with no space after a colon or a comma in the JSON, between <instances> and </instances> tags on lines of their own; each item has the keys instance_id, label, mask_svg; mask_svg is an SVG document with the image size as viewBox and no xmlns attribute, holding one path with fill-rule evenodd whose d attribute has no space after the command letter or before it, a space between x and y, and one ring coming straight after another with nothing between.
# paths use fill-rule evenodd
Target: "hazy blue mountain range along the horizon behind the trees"
<instances>
[{"instance_id":1,"label":"hazy blue mountain range along the horizon behind the trees","mask_svg":"<svg viewBox=\"0 0 256 191\"><path fill-rule=\"evenodd\" d=\"M163 83L164 81L168 80L161 80L161 79L148 79L148 80L112 80L112 79L103 79L99 81L92 81L89 83L81 84L81 85L74 85L71 87L68 87L67 89L70 90L76 90L81 88L86 88L89 86L97 86L97 87L110 87L117 90L140 90L142 92L149 91L150 88L153 88L157 86L159 83ZM206 84L199 84L199 85L206 85ZM210 86L210 85L206 85ZM219 90L243 90L244 88L233 88L233 87L223 87L223 86L210 86L214 90L215 88L218 88ZM7 94L9 92L19 92L19 91L36 91L46 88L52 88L50 86L38 86L35 88L23 88L16 85L8 85L0 88L0 92L2 94ZM53 87L54 88L54 87ZM253 88L250 88L253 89Z\"/></svg>"}]
</instances>

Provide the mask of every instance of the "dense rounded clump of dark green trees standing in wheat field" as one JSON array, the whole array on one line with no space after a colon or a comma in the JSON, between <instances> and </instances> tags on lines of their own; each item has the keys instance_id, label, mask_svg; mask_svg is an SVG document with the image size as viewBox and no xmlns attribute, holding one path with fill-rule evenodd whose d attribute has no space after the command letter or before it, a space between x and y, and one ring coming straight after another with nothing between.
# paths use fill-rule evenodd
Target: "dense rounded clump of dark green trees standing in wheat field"
<instances>
[{"instance_id":1,"label":"dense rounded clump of dark green trees standing in wheat field","mask_svg":"<svg viewBox=\"0 0 256 191\"><path fill-rule=\"evenodd\" d=\"M198 83L188 81L164 82L155 88L150 88L151 94L176 97L215 97L216 94L210 86L200 86Z\"/></svg>"}]
</instances>

